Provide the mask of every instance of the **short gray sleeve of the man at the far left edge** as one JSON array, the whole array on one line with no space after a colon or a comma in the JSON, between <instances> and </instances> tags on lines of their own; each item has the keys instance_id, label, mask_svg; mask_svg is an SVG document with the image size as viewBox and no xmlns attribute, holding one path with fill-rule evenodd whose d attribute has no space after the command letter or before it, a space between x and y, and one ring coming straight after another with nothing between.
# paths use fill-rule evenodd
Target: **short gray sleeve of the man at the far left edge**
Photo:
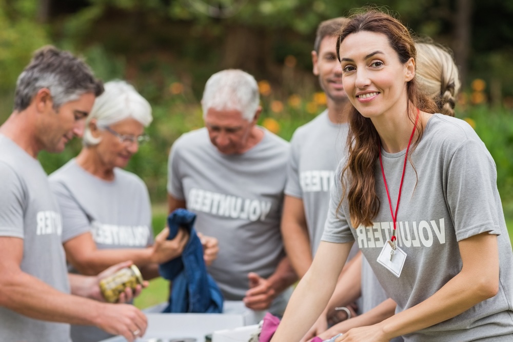
<instances>
[{"instance_id":1,"label":"short gray sleeve of the man at the far left edge","mask_svg":"<svg viewBox=\"0 0 513 342\"><path fill-rule=\"evenodd\" d=\"M0 163L0 179L0 236L24 238L24 187L5 163Z\"/></svg>"}]
</instances>

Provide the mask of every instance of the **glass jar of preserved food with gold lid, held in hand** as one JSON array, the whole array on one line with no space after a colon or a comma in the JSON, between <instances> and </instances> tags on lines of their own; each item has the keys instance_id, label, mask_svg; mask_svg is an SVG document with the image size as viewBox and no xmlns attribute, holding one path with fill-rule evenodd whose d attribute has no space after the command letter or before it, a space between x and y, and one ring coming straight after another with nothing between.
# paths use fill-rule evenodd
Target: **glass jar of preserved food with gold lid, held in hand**
<instances>
[{"instance_id":1,"label":"glass jar of preserved food with gold lid, held in hand","mask_svg":"<svg viewBox=\"0 0 513 342\"><path fill-rule=\"evenodd\" d=\"M122 268L116 273L100 280L100 290L109 303L116 303L120 294L125 292L127 287L135 291L137 285L143 284L143 276L135 265Z\"/></svg>"}]
</instances>

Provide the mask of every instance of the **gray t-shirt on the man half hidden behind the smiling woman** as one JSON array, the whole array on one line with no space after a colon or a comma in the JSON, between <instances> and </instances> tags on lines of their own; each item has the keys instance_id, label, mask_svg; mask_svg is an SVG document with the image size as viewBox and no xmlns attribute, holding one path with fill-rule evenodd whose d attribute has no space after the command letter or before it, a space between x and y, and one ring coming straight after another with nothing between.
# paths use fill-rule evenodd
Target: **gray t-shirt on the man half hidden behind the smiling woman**
<instances>
[{"instance_id":1,"label":"gray t-shirt on the man half hidden behind the smiling woman","mask_svg":"<svg viewBox=\"0 0 513 342\"><path fill-rule=\"evenodd\" d=\"M290 140L285 194L303 200L312 255L321 242L335 169L347 151L348 129L348 124L333 124L325 110Z\"/></svg>"}]
</instances>

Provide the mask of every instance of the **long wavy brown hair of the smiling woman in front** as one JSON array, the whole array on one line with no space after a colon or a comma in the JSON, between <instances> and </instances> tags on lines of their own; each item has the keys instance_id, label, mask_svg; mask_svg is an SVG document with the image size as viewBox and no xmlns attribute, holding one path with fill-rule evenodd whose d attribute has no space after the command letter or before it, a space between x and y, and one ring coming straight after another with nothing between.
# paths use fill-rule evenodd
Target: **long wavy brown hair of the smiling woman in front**
<instances>
[{"instance_id":1,"label":"long wavy brown hair of the smiling woman in front","mask_svg":"<svg viewBox=\"0 0 513 342\"><path fill-rule=\"evenodd\" d=\"M387 36L388 43L397 52L399 61L403 64L417 56L415 42L401 22L386 13L370 10L352 17L341 31L337 41L339 61L342 41L349 34L360 31L382 33ZM415 123L417 108L428 113L437 111L436 104L419 91L415 77L407 84L407 98L407 113L412 123ZM339 207L347 193L351 225L368 227L372 225L372 218L380 209L380 200L376 194L376 177L374 177L374 167L380 153L380 137L370 118L361 115L354 107L349 114L349 127L347 137L349 154L341 175L344 191ZM416 130L418 134L410 151L415 150L422 137L423 128L420 123L417 124ZM348 181L347 186L344 180Z\"/></svg>"}]
</instances>

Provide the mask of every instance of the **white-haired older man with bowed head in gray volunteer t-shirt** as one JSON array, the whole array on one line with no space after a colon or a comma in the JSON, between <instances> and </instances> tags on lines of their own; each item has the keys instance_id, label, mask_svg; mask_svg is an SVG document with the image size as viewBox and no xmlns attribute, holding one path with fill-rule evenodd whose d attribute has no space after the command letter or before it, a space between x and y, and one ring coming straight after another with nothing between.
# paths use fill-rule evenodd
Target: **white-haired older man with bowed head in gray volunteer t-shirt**
<instances>
[{"instance_id":1,"label":"white-haired older man with bowed head in gray volunteer t-shirt","mask_svg":"<svg viewBox=\"0 0 513 342\"><path fill-rule=\"evenodd\" d=\"M183 134L168 163L169 212L196 213L196 229L219 241L208 268L226 300L283 314L295 281L280 234L289 144L257 126L253 76L212 75L203 93L205 128Z\"/></svg>"}]
</instances>

